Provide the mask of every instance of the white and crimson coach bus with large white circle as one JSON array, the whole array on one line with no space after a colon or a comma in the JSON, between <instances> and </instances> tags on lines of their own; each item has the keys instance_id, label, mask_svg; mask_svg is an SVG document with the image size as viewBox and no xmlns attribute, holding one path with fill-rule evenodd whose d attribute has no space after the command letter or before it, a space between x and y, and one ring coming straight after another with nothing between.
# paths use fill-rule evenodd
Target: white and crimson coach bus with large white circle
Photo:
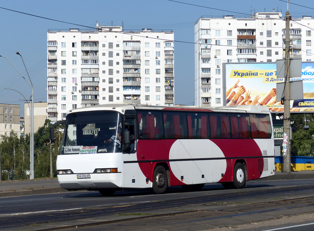
<instances>
[{"instance_id":1,"label":"white and crimson coach bus with large white circle","mask_svg":"<svg viewBox=\"0 0 314 231\"><path fill-rule=\"evenodd\" d=\"M105 104L68 111L57 178L61 188L98 190L205 183L243 188L274 175L274 138L266 106L166 107Z\"/></svg>"}]
</instances>

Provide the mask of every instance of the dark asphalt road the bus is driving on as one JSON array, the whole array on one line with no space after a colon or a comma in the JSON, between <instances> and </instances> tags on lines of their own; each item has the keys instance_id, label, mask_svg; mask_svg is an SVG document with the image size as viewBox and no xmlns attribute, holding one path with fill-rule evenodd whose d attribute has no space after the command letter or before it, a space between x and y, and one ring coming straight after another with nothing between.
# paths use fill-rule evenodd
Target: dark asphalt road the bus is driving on
<instances>
[{"instance_id":1,"label":"dark asphalt road the bus is driving on","mask_svg":"<svg viewBox=\"0 0 314 231\"><path fill-rule=\"evenodd\" d=\"M270 220L265 227L272 229L291 223L291 217L277 222L286 216L311 216L313 190L314 180L278 180L228 190L207 184L199 192L171 187L163 195L128 190L111 197L89 191L6 197L0 198L0 230L266 230L248 225ZM291 225L304 223L311 222ZM313 224L297 228L314 230Z\"/></svg>"}]
</instances>

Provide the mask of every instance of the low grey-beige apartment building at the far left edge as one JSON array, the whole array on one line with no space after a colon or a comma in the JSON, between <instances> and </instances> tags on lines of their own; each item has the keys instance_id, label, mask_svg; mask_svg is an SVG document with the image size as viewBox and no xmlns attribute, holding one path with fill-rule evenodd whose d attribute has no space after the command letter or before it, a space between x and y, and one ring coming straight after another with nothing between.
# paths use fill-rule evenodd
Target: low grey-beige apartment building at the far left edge
<instances>
[{"instance_id":1,"label":"low grey-beige apartment building at the far left edge","mask_svg":"<svg viewBox=\"0 0 314 231\"><path fill-rule=\"evenodd\" d=\"M19 114L20 105L0 104L0 135L10 136L10 132L13 130L18 137L20 136Z\"/></svg>"}]
</instances>

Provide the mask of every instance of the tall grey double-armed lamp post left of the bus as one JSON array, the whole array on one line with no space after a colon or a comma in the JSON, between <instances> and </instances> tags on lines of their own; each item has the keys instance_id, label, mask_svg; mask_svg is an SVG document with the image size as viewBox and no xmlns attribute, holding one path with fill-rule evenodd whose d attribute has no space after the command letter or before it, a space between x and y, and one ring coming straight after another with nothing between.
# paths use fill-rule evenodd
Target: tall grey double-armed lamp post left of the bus
<instances>
[{"instance_id":1,"label":"tall grey double-armed lamp post left of the bus","mask_svg":"<svg viewBox=\"0 0 314 231\"><path fill-rule=\"evenodd\" d=\"M19 54L19 52L17 52L16 54ZM19 54L20 55L20 54ZM21 55L20 55L21 56ZM0 55L0 57L3 57L5 59L7 59L6 57ZM22 56L21 56L22 58ZM8 59L7 59L8 60ZM23 61L23 59L22 59ZM15 66L8 60L8 62L14 67L14 69L19 72ZM23 61L24 63L24 61ZM24 64L25 66L25 64ZM25 67L26 69L26 67ZM27 70L26 70L27 72ZM31 80L30 80L30 83L24 78L24 76L19 72L20 76L23 77L23 79L30 85L30 87L32 88L32 95L30 97L30 180L33 180L34 179L34 102L33 102L33 98L34 98L34 88L33 88L33 84L30 84L32 83ZM27 72L27 75L28 75L28 72ZM28 75L28 77L30 77ZM25 97L24 97L25 98Z\"/></svg>"}]
</instances>

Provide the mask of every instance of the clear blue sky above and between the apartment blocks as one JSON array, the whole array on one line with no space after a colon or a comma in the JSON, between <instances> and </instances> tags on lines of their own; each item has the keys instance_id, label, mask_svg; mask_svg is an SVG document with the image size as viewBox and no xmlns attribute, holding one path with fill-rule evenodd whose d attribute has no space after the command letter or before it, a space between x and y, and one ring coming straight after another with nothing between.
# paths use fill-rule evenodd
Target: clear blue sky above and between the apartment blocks
<instances>
[{"instance_id":1,"label":"clear blue sky above and between the apartment blocks","mask_svg":"<svg viewBox=\"0 0 314 231\"><path fill-rule=\"evenodd\" d=\"M180 2L196 4L192 6L169 0L139 1L1 1L0 7L34 14L45 18L69 23L95 26L121 25L124 30L152 28L153 30L172 29L176 41L194 42L194 23L202 15L222 16L251 14L257 11L281 11L287 9L287 3L279 0L248 1L192 1ZM310 0L290 0L290 3L312 7ZM217 8L215 10L210 8ZM265 9L264 9L265 8ZM234 11L238 13L231 13ZM314 15L313 9L293 4L289 5L292 17ZM27 76L23 62L17 51L23 56L25 65L34 85L35 102L47 101L47 31L49 29L69 29L86 27L74 26L43 18L21 14L0 8L0 55ZM242 16L243 16L242 14ZM245 16L245 15L244 15ZM175 104L193 105L194 101L194 44L175 42ZM24 99L19 93L4 88L13 88L30 98L31 88L14 70L7 60L0 57L0 103L21 104L21 116L24 116Z\"/></svg>"}]
</instances>

